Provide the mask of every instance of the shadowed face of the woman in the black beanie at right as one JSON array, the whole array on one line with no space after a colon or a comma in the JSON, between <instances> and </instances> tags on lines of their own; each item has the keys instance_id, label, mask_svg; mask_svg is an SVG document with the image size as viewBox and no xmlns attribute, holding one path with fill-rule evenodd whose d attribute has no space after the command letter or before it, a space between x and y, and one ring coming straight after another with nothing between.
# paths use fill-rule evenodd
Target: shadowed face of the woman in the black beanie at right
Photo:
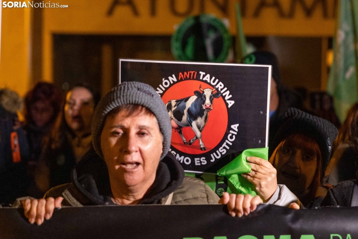
<instances>
[{"instance_id":1,"label":"shadowed face of the woman in the black beanie at right","mask_svg":"<svg viewBox=\"0 0 358 239\"><path fill-rule=\"evenodd\" d=\"M285 184L295 195L303 195L311 185L317 170L315 150L298 148L285 142L277 149L274 167L277 183Z\"/></svg>"}]
</instances>

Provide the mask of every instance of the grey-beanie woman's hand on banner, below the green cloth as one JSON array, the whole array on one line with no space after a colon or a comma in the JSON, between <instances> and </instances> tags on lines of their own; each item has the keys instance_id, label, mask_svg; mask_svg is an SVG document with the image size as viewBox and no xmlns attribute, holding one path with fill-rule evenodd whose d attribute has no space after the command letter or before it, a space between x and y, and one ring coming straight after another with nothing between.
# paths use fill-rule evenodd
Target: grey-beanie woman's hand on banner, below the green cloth
<instances>
[{"instance_id":1,"label":"grey-beanie woman's hand on banner, below the green cloth","mask_svg":"<svg viewBox=\"0 0 358 239\"><path fill-rule=\"evenodd\" d=\"M223 197L219 200L220 204L226 204L231 216L241 217L248 215L250 212L255 211L257 205L263 203L259 196L251 196L250 194L229 194L224 192Z\"/></svg>"}]
</instances>

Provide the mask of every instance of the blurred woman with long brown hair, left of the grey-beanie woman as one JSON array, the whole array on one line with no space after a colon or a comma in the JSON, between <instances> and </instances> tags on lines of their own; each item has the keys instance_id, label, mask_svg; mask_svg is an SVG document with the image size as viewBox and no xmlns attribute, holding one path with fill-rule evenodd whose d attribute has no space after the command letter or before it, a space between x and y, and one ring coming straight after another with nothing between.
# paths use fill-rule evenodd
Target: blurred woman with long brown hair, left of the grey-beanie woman
<instances>
[{"instance_id":1,"label":"blurred woman with long brown hair, left of the grey-beanie woman","mask_svg":"<svg viewBox=\"0 0 358 239\"><path fill-rule=\"evenodd\" d=\"M73 166L92 149L91 118L99 98L86 84L77 84L67 92L63 110L45 139L35 173L36 185L42 193L70 182Z\"/></svg>"}]
</instances>

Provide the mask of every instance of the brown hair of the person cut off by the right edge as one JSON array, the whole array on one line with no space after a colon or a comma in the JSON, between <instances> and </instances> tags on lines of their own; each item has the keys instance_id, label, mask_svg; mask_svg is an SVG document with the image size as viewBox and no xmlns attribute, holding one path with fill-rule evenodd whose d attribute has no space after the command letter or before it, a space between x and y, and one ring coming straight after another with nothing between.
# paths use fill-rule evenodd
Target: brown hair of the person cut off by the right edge
<instances>
[{"instance_id":1,"label":"brown hair of the person cut off by the right edge","mask_svg":"<svg viewBox=\"0 0 358 239\"><path fill-rule=\"evenodd\" d=\"M358 154L358 102L354 103L349 109L347 117L333 143L333 150L345 142Z\"/></svg>"}]
</instances>

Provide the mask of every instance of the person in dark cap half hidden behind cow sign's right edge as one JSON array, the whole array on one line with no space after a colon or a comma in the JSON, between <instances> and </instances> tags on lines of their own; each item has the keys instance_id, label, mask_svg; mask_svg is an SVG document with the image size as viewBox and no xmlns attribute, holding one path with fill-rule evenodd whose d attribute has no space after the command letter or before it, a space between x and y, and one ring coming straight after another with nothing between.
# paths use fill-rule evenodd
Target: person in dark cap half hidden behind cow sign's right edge
<instances>
[{"instance_id":1,"label":"person in dark cap half hidden behind cow sign's right edge","mask_svg":"<svg viewBox=\"0 0 358 239\"><path fill-rule=\"evenodd\" d=\"M273 53L256 51L245 56L243 63L272 65L269 127L269 147L272 147L286 110L290 107L302 108L302 99L298 93L282 84L277 57Z\"/></svg>"}]
</instances>

